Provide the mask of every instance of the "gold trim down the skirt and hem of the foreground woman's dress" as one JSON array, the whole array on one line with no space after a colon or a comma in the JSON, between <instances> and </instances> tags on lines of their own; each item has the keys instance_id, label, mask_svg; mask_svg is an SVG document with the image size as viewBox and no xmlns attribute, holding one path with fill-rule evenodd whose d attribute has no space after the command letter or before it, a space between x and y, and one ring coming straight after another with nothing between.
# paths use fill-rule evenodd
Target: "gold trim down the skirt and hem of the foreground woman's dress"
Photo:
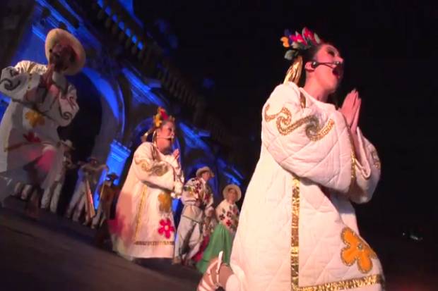
<instances>
[{"instance_id":1,"label":"gold trim down the skirt and hem of the foreground woman's dress","mask_svg":"<svg viewBox=\"0 0 438 291\"><path fill-rule=\"evenodd\" d=\"M300 287L300 178L292 175L292 223L290 239L290 287L292 291L338 291L367 285L384 284L381 274L368 275L321 285Z\"/></svg>"}]
</instances>

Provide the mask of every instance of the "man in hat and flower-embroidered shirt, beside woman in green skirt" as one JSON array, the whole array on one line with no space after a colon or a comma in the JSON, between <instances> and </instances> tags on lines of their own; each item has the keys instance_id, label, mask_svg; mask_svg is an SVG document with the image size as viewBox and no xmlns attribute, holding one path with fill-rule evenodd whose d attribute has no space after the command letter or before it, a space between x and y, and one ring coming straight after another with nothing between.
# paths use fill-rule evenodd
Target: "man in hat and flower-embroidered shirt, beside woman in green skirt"
<instances>
[{"instance_id":1,"label":"man in hat and flower-embroidered shirt, beside woman in green skirt","mask_svg":"<svg viewBox=\"0 0 438 291\"><path fill-rule=\"evenodd\" d=\"M213 190L208 185L213 177L213 171L204 166L184 185L181 199L184 209L178 225L173 264L192 264L192 258L201 247L203 223L214 212Z\"/></svg>"}]
</instances>

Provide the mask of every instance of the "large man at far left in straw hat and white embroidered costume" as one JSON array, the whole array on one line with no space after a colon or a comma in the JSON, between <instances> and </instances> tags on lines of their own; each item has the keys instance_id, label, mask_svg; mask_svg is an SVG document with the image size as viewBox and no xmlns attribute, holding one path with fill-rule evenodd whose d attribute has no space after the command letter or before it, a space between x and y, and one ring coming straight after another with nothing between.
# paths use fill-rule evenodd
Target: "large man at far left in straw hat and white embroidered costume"
<instances>
[{"instance_id":1,"label":"large man at far left in straw hat and white embroidered costume","mask_svg":"<svg viewBox=\"0 0 438 291\"><path fill-rule=\"evenodd\" d=\"M50 30L46 37L48 64L20 61L4 68L0 92L11 98L0 124L0 175L35 185L28 214L36 217L39 196L50 187L62 164L57 128L71 123L79 110L76 89L64 75L79 73L85 64L81 43L69 32ZM49 171L59 167L57 171Z\"/></svg>"}]
</instances>

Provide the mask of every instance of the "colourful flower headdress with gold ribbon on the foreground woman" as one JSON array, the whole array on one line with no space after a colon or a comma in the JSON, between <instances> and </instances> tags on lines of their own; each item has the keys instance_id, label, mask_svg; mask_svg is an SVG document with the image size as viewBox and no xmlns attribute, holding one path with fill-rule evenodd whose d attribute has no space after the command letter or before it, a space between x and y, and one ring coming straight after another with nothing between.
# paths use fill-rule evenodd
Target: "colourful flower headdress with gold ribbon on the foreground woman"
<instances>
[{"instance_id":1,"label":"colourful flower headdress with gold ribbon on the foreground woman","mask_svg":"<svg viewBox=\"0 0 438 291\"><path fill-rule=\"evenodd\" d=\"M298 84L302 72L302 52L321 44L322 40L316 33L304 27L301 34L295 32L295 35L290 33L290 30L285 30L285 36L281 37L280 41L283 42L283 47L288 48L285 58L292 61L284 82L292 81Z\"/></svg>"}]
</instances>

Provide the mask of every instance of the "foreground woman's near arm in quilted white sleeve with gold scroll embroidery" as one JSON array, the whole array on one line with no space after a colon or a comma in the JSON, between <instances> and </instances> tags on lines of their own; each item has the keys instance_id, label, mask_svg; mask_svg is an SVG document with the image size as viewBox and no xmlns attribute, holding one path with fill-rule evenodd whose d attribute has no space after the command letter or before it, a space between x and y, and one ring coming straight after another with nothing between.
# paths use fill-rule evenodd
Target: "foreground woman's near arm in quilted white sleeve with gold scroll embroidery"
<instances>
[{"instance_id":1,"label":"foreground woman's near arm in quilted white sleeve with gold scroll embroidery","mask_svg":"<svg viewBox=\"0 0 438 291\"><path fill-rule=\"evenodd\" d=\"M286 171L339 192L348 192L354 156L338 111L302 103L300 90L279 85L264 105L262 144Z\"/></svg>"}]
</instances>

